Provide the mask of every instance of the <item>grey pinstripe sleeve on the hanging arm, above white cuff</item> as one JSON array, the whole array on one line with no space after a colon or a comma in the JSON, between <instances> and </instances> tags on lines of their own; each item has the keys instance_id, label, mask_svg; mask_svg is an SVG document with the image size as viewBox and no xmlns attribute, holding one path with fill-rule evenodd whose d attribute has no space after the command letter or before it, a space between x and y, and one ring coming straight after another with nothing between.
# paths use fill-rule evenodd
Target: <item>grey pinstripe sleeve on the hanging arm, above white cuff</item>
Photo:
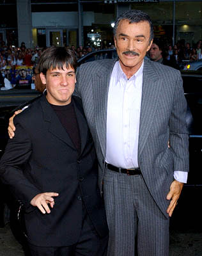
<instances>
[{"instance_id":1,"label":"grey pinstripe sleeve on the hanging arm, above white cuff","mask_svg":"<svg viewBox=\"0 0 202 256\"><path fill-rule=\"evenodd\" d=\"M176 79L173 110L169 118L169 144L174 153L174 171L189 172L189 133L185 116L187 101L184 97L182 77Z\"/></svg>"}]
</instances>

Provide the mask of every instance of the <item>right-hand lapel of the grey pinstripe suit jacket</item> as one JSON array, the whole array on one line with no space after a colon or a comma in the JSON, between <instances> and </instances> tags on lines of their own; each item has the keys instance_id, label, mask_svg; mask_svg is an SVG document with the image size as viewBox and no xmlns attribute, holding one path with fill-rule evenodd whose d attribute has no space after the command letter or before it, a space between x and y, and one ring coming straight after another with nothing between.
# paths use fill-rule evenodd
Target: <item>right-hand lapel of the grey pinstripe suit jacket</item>
<instances>
[{"instance_id":1,"label":"right-hand lapel of the grey pinstripe suit jacket","mask_svg":"<svg viewBox=\"0 0 202 256\"><path fill-rule=\"evenodd\" d=\"M153 124L162 81L149 61L144 61L138 155L141 155Z\"/></svg>"}]
</instances>

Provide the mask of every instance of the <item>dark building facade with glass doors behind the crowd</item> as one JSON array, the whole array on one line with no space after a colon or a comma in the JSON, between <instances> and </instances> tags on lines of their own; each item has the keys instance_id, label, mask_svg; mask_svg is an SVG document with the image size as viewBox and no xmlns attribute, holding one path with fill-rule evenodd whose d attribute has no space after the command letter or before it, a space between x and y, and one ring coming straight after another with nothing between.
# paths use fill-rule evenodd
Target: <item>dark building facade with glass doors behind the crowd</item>
<instances>
[{"instance_id":1,"label":"dark building facade with glass doors behind the crowd","mask_svg":"<svg viewBox=\"0 0 202 256\"><path fill-rule=\"evenodd\" d=\"M202 38L201 0L0 0L0 43L109 47L111 24L128 9L148 13L155 36L168 44Z\"/></svg>"}]
</instances>

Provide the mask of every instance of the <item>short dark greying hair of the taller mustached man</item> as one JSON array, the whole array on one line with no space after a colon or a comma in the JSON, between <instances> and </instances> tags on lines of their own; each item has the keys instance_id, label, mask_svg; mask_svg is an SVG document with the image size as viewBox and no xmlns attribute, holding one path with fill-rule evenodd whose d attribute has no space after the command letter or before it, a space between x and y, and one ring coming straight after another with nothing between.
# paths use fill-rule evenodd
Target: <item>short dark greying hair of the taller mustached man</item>
<instances>
[{"instance_id":1,"label":"short dark greying hair of the taller mustached man","mask_svg":"<svg viewBox=\"0 0 202 256\"><path fill-rule=\"evenodd\" d=\"M124 13L122 13L115 21L114 24L114 36L116 36L116 31L118 28L118 24L120 23L121 20L129 20L129 23L138 23L141 21L147 21L150 24L150 43L152 42L153 39L153 24L152 20L150 19L150 16L139 10L128 10Z\"/></svg>"}]
</instances>

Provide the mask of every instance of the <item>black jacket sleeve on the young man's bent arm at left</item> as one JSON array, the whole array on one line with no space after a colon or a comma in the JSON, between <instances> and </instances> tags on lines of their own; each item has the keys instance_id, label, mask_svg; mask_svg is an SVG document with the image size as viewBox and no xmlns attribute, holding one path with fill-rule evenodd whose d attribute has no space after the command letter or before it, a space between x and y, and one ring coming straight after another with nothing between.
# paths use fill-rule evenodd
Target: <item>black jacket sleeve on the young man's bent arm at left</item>
<instances>
[{"instance_id":1,"label":"black jacket sleeve on the young man's bent arm at left","mask_svg":"<svg viewBox=\"0 0 202 256\"><path fill-rule=\"evenodd\" d=\"M25 207L32 207L31 199L41 193L29 177L29 157L31 156L31 139L26 129L15 122L15 137L8 141L0 162L0 175L4 184L10 185L14 195ZM27 179L29 177L29 179Z\"/></svg>"}]
</instances>

